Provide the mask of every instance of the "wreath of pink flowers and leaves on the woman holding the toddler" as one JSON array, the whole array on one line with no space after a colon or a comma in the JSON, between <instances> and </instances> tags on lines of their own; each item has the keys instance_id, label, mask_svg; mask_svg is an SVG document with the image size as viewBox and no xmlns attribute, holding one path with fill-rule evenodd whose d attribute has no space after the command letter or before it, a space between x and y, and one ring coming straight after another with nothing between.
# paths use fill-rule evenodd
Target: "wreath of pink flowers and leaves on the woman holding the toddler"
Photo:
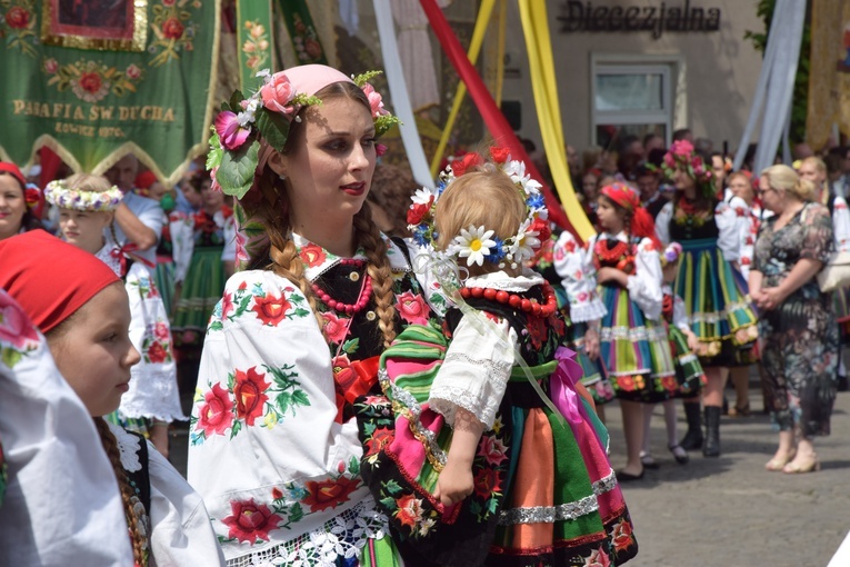
<instances>
[{"instance_id":1,"label":"wreath of pink flowers and leaves on the woman holding the toddler","mask_svg":"<svg viewBox=\"0 0 850 567\"><path fill-rule=\"evenodd\" d=\"M367 82L380 73L369 71L351 78L369 99L376 138L400 122L398 117L383 108L380 93ZM229 101L221 105L207 157L213 187L237 199L244 197L253 185L260 138L274 150L283 151L291 121L300 121L297 115L301 107L322 102L318 97L297 92L286 72L271 74L263 69L257 77L263 78L260 90L248 98L237 90Z\"/></svg>"}]
</instances>

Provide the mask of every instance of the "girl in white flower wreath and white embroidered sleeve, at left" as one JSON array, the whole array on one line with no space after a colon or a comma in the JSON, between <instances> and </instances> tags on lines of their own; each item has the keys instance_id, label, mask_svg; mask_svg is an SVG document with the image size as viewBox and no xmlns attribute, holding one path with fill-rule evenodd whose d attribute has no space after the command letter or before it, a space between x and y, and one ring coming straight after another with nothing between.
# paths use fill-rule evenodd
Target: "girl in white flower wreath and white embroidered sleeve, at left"
<instances>
[{"instance_id":1,"label":"girl in white flower wreath and white embroidered sleeve, at left","mask_svg":"<svg viewBox=\"0 0 850 567\"><path fill-rule=\"evenodd\" d=\"M123 280L130 298L130 340L141 360L132 367L130 389L110 420L149 437L168 457L169 424L186 419L180 408L168 314L146 260L126 253L114 243L114 237L109 241L103 237L104 229L112 227L122 193L103 177L77 173L48 183L44 196L59 210L62 238L109 266Z\"/></svg>"}]
</instances>

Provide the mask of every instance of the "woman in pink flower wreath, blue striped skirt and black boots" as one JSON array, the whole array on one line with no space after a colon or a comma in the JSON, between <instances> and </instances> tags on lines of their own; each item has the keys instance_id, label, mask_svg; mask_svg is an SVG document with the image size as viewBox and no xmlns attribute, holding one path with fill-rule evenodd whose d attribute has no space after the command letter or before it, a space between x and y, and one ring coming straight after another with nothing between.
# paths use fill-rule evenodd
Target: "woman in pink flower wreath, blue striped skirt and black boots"
<instances>
[{"instance_id":1,"label":"woman in pink flower wreath, blue striped skirt and black boots","mask_svg":"<svg viewBox=\"0 0 850 567\"><path fill-rule=\"evenodd\" d=\"M697 355L708 379L702 390L704 447L698 399L684 400L688 432L681 446L686 450L702 447L704 456L718 457L728 369L753 361L752 347L758 336L757 316L738 267L740 235L748 229L749 220L737 212L746 210L743 201L733 198L727 203L718 199L711 171L689 142L673 142L663 168L676 183L676 193L658 215L656 230L664 245L682 245L673 291L684 300L686 316L699 339Z\"/></svg>"}]
</instances>

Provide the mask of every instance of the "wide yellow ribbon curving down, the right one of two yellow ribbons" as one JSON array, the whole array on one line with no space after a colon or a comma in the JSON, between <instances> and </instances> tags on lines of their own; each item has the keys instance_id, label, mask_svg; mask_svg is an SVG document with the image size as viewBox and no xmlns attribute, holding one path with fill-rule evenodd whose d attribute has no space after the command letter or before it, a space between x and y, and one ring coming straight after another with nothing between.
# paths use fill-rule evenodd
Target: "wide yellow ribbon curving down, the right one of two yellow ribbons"
<instances>
[{"instance_id":1,"label":"wide yellow ribbon curving down, the right one of two yellow ribbons","mask_svg":"<svg viewBox=\"0 0 850 567\"><path fill-rule=\"evenodd\" d=\"M570 225L579 238L587 241L596 235L596 230L576 197L567 165L567 145L561 130L561 111L554 80L546 0L519 0L519 8L531 71L531 89L534 93L534 106L549 169Z\"/></svg>"}]
</instances>

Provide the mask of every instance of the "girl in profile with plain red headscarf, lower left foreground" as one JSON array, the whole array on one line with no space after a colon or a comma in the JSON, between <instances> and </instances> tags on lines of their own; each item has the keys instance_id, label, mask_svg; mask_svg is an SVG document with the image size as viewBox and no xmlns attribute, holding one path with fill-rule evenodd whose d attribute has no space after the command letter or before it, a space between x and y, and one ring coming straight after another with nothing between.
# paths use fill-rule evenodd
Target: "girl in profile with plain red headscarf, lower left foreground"
<instances>
[{"instance_id":1,"label":"girl in profile with plain red headscarf, lower left foreground","mask_svg":"<svg viewBox=\"0 0 850 567\"><path fill-rule=\"evenodd\" d=\"M43 230L3 240L0 257L0 288L44 334L60 374L94 420L118 479L134 565L223 565L201 497L141 435L103 419L118 408L141 358L128 331L124 285L91 253ZM100 545L122 544L101 538ZM70 564L79 565L76 558Z\"/></svg>"}]
</instances>

